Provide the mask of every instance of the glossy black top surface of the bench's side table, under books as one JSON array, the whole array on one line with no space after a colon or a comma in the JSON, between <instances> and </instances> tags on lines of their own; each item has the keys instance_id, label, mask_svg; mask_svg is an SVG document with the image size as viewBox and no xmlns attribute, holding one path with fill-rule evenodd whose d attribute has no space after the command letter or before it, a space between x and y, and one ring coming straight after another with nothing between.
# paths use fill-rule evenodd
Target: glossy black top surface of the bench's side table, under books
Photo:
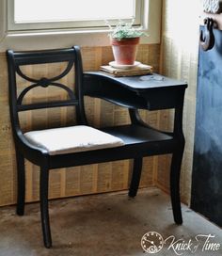
<instances>
[{"instance_id":1,"label":"glossy black top surface of the bench's side table, under books","mask_svg":"<svg viewBox=\"0 0 222 256\"><path fill-rule=\"evenodd\" d=\"M115 77L106 72L85 72L86 74L94 74L103 78L112 79L112 81L131 89L148 89L148 88L171 88L171 87L187 87L187 82L169 78L167 76L152 73L139 76L122 76Z\"/></svg>"}]
</instances>

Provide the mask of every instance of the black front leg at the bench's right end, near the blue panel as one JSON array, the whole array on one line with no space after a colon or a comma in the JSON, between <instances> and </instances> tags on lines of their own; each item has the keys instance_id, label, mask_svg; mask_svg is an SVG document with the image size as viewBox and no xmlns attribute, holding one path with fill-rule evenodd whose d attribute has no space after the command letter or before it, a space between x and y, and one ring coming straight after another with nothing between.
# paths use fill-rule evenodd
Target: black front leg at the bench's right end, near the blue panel
<instances>
[{"instance_id":1,"label":"black front leg at the bench's right end, near the blue panel","mask_svg":"<svg viewBox=\"0 0 222 256\"><path fill-rule=\"evenodd\" d=\"M181 150L173 153L170 171L170 196L173 209L173 217L176 224L182 224L180 176L183 148L184 147L182 147Z\"/></svg>"}]
</instances>

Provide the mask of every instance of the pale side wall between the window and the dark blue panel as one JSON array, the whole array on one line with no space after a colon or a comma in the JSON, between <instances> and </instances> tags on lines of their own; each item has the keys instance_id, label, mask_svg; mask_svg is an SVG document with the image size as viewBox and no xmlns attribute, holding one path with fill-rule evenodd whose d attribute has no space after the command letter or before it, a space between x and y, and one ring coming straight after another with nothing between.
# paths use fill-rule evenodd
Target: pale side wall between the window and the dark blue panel
<instances>
[{"instance_id":1,"label":"pale side wall between the window and the dark blue panel","mask_svg":"<svg viewBox=\"0 0 222 256\"><path fill-rule=\"evenodd\" d=\"M196 113L196 89L198 72L198 24L199 0L163 1L161 72L188 82L183 108L183 132L186 140L182 160L182 201L189 204L193 165L194 130ZM188 14L188 15L187 15ZM171 111L161 114L161 127L170 128ZM170 156L159 157L157 185L168 191Z\"/></svg>"}]
</instances>

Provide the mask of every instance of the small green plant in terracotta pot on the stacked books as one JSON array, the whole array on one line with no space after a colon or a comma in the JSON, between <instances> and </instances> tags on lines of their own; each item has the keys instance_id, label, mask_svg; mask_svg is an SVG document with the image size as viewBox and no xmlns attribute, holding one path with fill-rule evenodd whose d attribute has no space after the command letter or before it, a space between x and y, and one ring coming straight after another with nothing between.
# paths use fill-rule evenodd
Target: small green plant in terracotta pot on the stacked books
<instances>
[{"instance_id":1,"label":"small green plant in terracotta pot on the stacked books","mask_svg":"<svg viewBox=\"0 0 222 256\"><path fill-rule=\"evenodd\" d=\"M113 49L115 64L135 65L135 57L140 37L146 35L141 27L134 27L134 21L127 24L119 21L115 27L108 24L110 28L109 37Z\"/></svg>"}]
</instances>

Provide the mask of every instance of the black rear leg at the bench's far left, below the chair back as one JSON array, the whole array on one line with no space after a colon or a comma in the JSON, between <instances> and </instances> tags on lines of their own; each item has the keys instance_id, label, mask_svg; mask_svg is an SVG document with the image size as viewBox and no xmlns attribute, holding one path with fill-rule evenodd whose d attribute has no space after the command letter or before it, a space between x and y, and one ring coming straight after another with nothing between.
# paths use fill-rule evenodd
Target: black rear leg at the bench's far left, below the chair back
<instances>
[{"instance_id":1,"label":"black rear leg at the bench's far left, below the chair back","mask_svg":"<svg viewBox=\"0 0 222 256\"><path fill-rule=\"evenodd\" d=\"M17 161L17 206L18 216L24 216L24 197L25 197L25 174L24 174L24 156L16 151Z\"/></svg>"}]
</instances>

